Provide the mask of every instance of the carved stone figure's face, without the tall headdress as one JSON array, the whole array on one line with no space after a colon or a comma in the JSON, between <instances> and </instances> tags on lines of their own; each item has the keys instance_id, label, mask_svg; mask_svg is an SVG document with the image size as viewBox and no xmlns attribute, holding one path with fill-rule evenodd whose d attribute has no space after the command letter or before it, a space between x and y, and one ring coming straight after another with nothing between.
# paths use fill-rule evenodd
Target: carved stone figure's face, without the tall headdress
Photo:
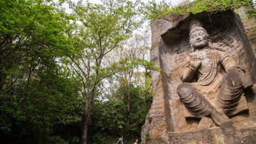
<instances>
[{"instance_id":1,"label":"carved stone figure's face, without the tall headdress","mask_svg":"<svg viewBox=\"0 0 256 144\"><path fill-rule=\"evenodd\" d=\"M195 49L200 49L208 45L207 34L203 30L196 30L190 34L190 44Z\"/></svg>"}]
</instances>

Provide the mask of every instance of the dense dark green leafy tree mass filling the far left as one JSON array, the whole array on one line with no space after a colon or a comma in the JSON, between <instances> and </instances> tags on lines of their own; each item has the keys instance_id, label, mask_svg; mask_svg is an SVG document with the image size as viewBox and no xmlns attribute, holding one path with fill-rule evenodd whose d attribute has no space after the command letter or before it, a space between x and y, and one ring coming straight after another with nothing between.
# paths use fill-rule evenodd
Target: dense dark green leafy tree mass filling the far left
<instances>
[{"instance_id":1,"label":"dense dark green leafy tree mass filling the far left","mask_svg":"<svg viewBox=\"0 0 256 144\"><path fill-rule=\"evenodd\" d=\"M54 125L81 121L81 83L58 60L71 52L70 15L49 0L0 5L0 139L49 143Z\"/></svg>"}]
</instances>

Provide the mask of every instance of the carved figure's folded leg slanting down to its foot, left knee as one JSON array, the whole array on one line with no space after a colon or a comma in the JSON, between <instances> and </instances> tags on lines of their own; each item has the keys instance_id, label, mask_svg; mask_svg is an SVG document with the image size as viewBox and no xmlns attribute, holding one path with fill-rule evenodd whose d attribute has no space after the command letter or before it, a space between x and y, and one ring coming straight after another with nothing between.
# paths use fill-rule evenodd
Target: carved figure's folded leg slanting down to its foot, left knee
<instances>
[{"instance_id":1,"label":"carved figure's folded leg slanting down to its foot, left knee","mask_svg":"<svg viewBox=\"0 0 256 144\"><path fill-rule=\"evenodd\" d=\"M210 115L221 127L233 125L226 115L219 113L190 83L180 84L177 87L177 93L185 107L195 117Z\"/></svg>"}]
</instances>

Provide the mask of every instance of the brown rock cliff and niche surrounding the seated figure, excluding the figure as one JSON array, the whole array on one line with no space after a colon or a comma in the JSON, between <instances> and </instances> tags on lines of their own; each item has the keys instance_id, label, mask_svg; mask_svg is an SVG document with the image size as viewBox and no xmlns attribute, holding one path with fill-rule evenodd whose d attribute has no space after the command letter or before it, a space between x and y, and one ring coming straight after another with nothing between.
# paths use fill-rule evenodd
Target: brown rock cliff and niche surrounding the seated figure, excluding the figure
<instances>
[{"instance_id":1,"label":"brown rock cliff and niche surrounding the seated figure, excluding the figure","mask_svg":"<svg viewBox=\"0 0 256 144\"><path fill-rule=\"evenodd\" d=\"M256 41L251 31L256 22L246 18L246 9L215 14L169 14L151 22L150 59L162 70L151 75L153 103L142 126L141 143L256 143ZM244 90L237 113L228 115L235 129L222 129L210 116L189 116L177 94L177 86L182 83L179 76L182 62L191 51L189 23L194 19L203 23L212 47L231 55L254 83ZM212 89L206 99L212 103L219 89Z\"/></svg>"}]
</instances>

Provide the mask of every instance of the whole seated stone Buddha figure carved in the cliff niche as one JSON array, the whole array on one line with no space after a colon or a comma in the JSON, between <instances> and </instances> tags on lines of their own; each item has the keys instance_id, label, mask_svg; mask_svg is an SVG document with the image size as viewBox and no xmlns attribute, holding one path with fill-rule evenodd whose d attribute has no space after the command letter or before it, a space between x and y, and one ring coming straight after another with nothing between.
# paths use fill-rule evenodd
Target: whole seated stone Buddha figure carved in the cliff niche
<instances>
[{"instance_id":1,"label":"whole seated stone Buddha figure carved in the cliff niche","mask_svg":"<svg viewBox=\"0 0 256 144\"><path fill-rule=\"evenodd\" d=\"M250 77L231 55L211 45L198 20L190 22L189 42L192 50L183 60L177 87L185 117L210 117L218 126L233 126L228 116L248 109L244 89L253 85Z\"/></svg>"}]
</instances>

